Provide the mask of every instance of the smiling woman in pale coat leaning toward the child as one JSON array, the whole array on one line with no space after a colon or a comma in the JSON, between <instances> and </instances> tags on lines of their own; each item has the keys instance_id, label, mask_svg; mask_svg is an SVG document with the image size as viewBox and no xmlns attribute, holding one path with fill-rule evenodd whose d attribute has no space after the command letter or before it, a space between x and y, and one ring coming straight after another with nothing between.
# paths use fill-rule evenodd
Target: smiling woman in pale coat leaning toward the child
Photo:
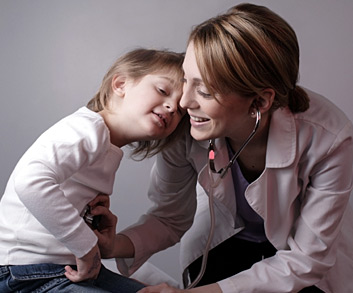
<instances>
[{"instance_id":1,"label":"smiling woman in pale coat leaning toward the child","mask_svg":"<svg viewBox=\"0 0 353 293\"><path fill-rule=\"evenodd\" d=\"M158 154L153 209L114 243L102 236L102 254L131 274L183 236L185 276L196 279L210 230L207 194L216 219L211 251L188 292L351 292L352 123L297 85L293 29L265 7L235 6L194 28L183 67L191 136ZM214 172L255 129L217 182ZM140 292L179 291L164 284Z\"/></svg>"}]
</instances>

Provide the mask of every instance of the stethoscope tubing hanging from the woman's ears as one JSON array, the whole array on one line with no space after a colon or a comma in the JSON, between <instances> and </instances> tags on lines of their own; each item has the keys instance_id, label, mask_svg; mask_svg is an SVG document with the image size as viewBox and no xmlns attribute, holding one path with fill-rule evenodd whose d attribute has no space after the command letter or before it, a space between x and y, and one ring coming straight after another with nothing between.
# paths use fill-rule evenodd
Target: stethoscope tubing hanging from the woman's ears
<instances>
[{"instance_id":1,"label":"stethoscope tubing hanging from the woman's ears","mask_svg":"<svg viewBox=\"0 0 353 293\"><path fill-rule=\"evenodd\" d=\"M227 175L228 170L232 167L236 159L239 157L240 153L242 150L247 146L247 144L250 142L250 140L254 137L256 134L259 125L261 122L261 112L260 110L256 107L256 121L254 125L254 129L248 136L248 138L243 142L243 144L240 146L238 151L233 155L233 157L229 160L228 164L224 166L223 168L219 169L218 171L215 168L214 164L214 159L215 159L215 152L214 152L214 139L210 139L209 141L209 146L208 146L208 174L209 174L209 179L210 179L210 188L209 188L209 193L208 193L208 203L209 203L209 208L210 208L210 232L208 235L208 240L205 246L205 251L203 253L203 258L202 258L202 264L201 264L201 269L196 277L196 279L186 288L186 289L191 289L194 288L198 282L200 282L202 276L205 273L206 270L206 265L207 265L207 258L208 258L208 252L210 250L211 246L211 241L213 238L214 234L214 229L215 229L215 216L214 216L214 207L213 207L213 190L220 184L221 180ZM214 174L218 174L218 178L215 180L214 179Z\"/></svg>"}]
</instances>

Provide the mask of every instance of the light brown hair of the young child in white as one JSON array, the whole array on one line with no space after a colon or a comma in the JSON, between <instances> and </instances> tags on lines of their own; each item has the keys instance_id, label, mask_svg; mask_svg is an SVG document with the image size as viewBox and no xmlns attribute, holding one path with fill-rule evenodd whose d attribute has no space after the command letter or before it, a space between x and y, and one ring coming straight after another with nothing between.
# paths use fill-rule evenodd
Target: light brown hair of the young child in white
<instances>
[{"instance_id":1,"label":"light brown hair of the young child in white","mask_svg":"<svg viewBox=\"0 0 353 293\"><path fill-rule=\"evenodd\" d=\"M182 63L184 53L175 53L168 50L154 50L139 48L121 56L110 67L103 78L102 84L96 95L88 102L87 108L94 112L105 109L112 94L112 81L114 76L120 75L138 83L144 76L161 72L174 72L175 80L180 81L182 87ZM151 157L177 139L186 124L183 117L178 127L167 138L162 140L138 141L132 143L132 156L140 158Z\"/></svg>"}]
</instances>

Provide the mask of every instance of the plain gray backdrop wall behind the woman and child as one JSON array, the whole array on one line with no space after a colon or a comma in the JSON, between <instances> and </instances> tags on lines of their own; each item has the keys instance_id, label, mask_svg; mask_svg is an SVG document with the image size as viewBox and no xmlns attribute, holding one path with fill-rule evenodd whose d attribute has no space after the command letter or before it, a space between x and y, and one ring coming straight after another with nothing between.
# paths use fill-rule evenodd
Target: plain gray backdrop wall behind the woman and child
<instances>
[{"instance_id":1,"label":"plain gray backdrop wall behind the woman and child","mask_svg":"<svg viewBox=\"0 0 353 293\"><path fill-rule=\"evenodd\" d=\"M138 46L184 51L193 25L234 0L0 0L0 196L17 160L45 129L85 105L108 67ZM267 0L296 30L300 84L353 118L353 1ZM153 159L125 156L112 209L118 229L148 207ZM178 246L151 258L179 278Z\"/></svg>"}]
</instances>

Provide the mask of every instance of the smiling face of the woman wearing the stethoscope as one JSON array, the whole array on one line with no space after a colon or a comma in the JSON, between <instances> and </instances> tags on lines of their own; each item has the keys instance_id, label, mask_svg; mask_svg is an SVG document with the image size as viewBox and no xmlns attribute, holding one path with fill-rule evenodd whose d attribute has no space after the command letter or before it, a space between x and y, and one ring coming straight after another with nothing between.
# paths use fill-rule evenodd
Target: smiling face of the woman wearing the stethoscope
<instances>
[{"instance_id":1,"label":"smiling face of the woman wearing the stethoscope","mask_svg":"<svg viewBox=\"0 0 353 293\"><path fill-rule=\"evenodd\" d=\"M217 137L243 139L253 127L251 99L235 93L211 96L205 87L190 43L184 59L184 89L180 105L190 115L191 135L196 140Z\"/></svg>"}]
</instances>

